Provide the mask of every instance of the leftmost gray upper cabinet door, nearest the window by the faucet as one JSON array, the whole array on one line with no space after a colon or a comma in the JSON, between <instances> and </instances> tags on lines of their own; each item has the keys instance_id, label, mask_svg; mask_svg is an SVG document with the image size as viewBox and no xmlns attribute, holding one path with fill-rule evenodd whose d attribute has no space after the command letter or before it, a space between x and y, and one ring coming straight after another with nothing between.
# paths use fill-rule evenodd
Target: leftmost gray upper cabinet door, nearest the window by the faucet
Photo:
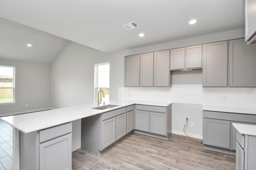
<instances>
[{"instance_id":1,"label":"leftmost gray upper cabinet door, nearest the window by the faucet","mask_svg":"<svg viewBox=\"0 0 256 170\"><path fill-rule=\"evenodd\" d=\"M140 86L140 55L124 57L124 86Z\"/></svg>"}]
</instances>

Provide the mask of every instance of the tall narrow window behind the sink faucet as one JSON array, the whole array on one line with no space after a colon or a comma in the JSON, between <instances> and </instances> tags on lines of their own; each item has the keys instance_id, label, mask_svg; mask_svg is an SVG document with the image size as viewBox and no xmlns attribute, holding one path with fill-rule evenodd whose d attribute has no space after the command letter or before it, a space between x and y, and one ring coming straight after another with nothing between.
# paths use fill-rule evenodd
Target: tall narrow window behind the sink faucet
<instances>
[{"instance_id":1,"label":"tall narrow window behind the sink faucet","mask_svg":"<svg viewBox=\"0 0 256 170\"><path fill-rule=\"evenodd\" d=\"M103 97L102 92L99 94L99 102L109 101L109 63L95 64L95 76L94 76L94 101L98 102L98 92L102 90L105 97Z\"/></svg>"}]
</instances>

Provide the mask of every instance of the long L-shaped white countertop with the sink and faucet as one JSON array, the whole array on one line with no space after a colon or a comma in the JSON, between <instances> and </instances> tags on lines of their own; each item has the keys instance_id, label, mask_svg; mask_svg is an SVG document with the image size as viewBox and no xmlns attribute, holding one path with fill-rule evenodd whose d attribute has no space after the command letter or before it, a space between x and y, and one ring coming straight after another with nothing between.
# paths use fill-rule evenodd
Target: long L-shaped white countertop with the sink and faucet
<instances>
[{"instance_id":1,"label":"long L-shaped white countertop with the sink and faucet","mask_svg":"<svg viewBox=\"0 0 256 170\"><path fill-rule=\"evenodd\" d=\"M97 107L97 104L84 104L80 106L64 107L60 109L52 109L46 111L38 111L34 113L26 113L20 115L12 115L6 117L0 117L12 127L24 132L29 133L32 131L37 131L45 129L48 127L60 125L62 123L67 123L77 119L82 119L84 117L89 117L99 113L104 113L106 111L118 109L121 107L142 104L142 105L152 105L152 106L168 106L171 103L168 102L150 102L150 101L110 101L108 104L118 105L109 109L98 110L92 109ZM107 103L105 104L107 105Z\"/></svg>"}]
</instances>

